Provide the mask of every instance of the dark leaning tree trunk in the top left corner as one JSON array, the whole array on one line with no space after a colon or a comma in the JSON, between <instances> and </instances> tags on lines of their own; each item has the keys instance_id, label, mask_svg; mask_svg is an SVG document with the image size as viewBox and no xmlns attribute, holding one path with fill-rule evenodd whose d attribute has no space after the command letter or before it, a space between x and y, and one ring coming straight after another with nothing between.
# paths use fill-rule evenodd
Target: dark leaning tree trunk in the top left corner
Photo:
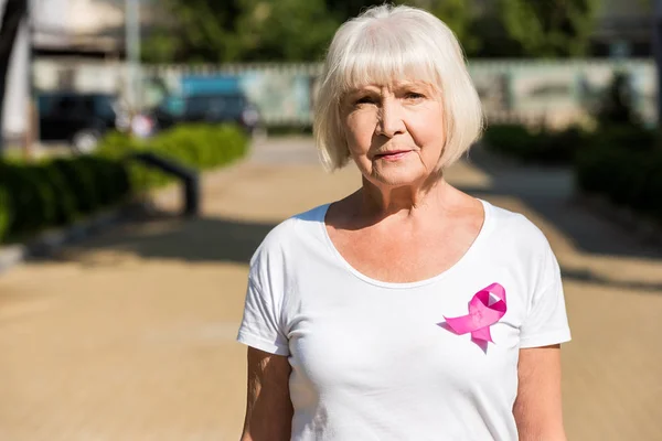
<instances>
[{"instance_id":1,"label":"dark leaning tree trunk in the top left corner","mask_svg":"<svg viewBox=\"0 0 662 441\"><path fill-rule=\"evenodd\" d=\"M4 150L2 119L7 74L9 72L14 42L26 13L28 0L7 0L2 22L0 23L0 158Z\"/></svg>"}]
</instances>

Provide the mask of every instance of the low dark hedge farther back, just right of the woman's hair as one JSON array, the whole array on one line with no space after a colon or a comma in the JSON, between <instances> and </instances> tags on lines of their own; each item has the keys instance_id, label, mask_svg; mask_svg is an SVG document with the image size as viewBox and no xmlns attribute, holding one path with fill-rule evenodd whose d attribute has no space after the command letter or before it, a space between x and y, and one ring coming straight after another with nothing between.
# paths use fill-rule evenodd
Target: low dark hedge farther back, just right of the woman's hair
<instances>
[{"instance_id":1,"label":"low dark hedge farther back, just right of the woman's hair","mask_svg":"<svg viewBox=\"0 0 662 441\"><path fill-rule=\"evenodd\" d=\"M587 137L578 127L534 131L522 125L495 125L488 127L483 140L488 149L524 163L567 164Z\"/></svg>"}]
</instances>

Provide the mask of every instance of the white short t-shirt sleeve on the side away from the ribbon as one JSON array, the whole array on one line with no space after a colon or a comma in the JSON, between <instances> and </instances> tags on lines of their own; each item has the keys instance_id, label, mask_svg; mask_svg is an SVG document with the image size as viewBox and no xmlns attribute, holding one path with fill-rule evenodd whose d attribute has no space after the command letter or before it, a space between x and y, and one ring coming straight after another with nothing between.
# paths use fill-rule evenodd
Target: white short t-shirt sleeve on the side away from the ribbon
<instances>
[{"instance_id":1,"label":"white short t-shirt sleeve on the side away from the ribbon","mask_svg":"<svg viewBox=\"0 0 662 441\"><path fill-rule=\"evenodd\" d=\"M244 318L237 342L277 355L289 355L288 340L281 329L279 302L248 279Z\"/></svg>"}]
</instances>

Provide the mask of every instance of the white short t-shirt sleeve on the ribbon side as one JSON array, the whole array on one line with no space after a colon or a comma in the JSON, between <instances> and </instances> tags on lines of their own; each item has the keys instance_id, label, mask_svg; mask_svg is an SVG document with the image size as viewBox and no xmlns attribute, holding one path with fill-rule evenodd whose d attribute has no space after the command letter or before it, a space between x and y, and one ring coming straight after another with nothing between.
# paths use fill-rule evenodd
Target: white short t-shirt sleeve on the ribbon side
<instances>
[{"instance_id":1,"label":"white short t-shirt sleeve on the ribbon side","mask_svg":"<svg viewBox=\"0 0 662 441\"><path fill-rule=\"evenodd\" d=\"M540 288L531 294L527 313L520 329L520 347L541 347L569 342L570 329L556 257L548 249L542 268Z\"/></svg>"}]
</instances>

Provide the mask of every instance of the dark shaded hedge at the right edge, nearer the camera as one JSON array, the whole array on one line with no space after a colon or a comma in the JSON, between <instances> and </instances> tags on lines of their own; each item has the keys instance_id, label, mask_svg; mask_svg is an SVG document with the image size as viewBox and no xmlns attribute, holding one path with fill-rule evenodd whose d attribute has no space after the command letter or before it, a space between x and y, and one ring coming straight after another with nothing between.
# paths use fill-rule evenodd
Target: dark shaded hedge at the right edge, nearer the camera
<instances>
[{"instance_id":1,"label":"dark shaded hedge at the right edge, nearer the camera","mask_svg":"<svg viewBox=\"0 0 662 441\"><path fill-rule=\"evenodd\" d=\"M602 130L575 162L578 186L662 220L662 149L637 127Z\"/></svg>"}]
</instances>

